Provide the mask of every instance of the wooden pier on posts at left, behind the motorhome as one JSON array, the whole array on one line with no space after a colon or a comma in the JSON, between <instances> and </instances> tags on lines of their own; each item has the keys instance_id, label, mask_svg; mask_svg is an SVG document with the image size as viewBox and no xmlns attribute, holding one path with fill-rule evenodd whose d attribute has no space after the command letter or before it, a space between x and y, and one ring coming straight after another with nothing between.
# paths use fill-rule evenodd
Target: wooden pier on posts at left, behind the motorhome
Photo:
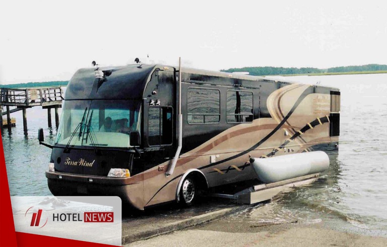
<instances>
[{"instance_id":1,"label":"wooden pier on posts at left, behind the motorhome","mask_svg":"<svg viewBox=\"0 0 387 247\"><path fill-rule=\"evenodd\" d=\"M52 88L0 88L0 123L3 130L3 115L7 114L7 127L12 127L10 114L19 110L23 111L23 128L27 132L26 109L33 106L42 106L47 109L48 127L51 127L51 109L55 109L55 125L59 125L58 108L62 107L63 92L60 87ZM3 109L6 107L6 110ZM10 107L16 107L10 109ZM5 112L3 112L5 111Z\"/></svg>"}]
</instances>

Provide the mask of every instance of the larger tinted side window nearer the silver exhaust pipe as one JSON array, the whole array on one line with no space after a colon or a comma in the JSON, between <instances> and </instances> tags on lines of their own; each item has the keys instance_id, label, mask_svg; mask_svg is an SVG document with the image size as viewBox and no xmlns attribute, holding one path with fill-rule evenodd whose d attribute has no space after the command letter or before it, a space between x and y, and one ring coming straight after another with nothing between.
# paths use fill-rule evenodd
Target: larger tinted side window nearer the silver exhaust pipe
<instances>
[{"instance_id":1,"label":"larger tinted side window nearer the silver exhaust pipe","mask_svg":"<svg viewBox=\"0 0 387 247\"><path fill-rule=\"evenodd\" d=\"M220 120L220 91L207 88L188 88L188 123L218 123Z\"/></svg>"}]
</instances>

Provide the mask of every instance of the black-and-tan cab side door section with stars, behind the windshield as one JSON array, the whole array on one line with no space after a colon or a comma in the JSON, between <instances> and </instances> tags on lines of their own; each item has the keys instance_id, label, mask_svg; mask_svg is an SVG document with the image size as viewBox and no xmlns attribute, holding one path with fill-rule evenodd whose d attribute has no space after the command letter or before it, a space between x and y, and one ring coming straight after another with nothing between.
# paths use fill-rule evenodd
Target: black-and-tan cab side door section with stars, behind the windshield
<instances>
[{"instance_id":1,"label":"black-and-tan cab side door section with stars, behind the windshield","mask_svg":"<svg viewBox=\"0 0 387 247\"><path fill-rule=\"evenodd\" d=\"M144 170L152 169L144 177L144 200L155 198L151 204L162 202L155 197L170 179L165 176L170 160L176 152L176 72L155 71L149 82L144 101ZM173 69L173 68L172 68ZM156 168L157 167L157 168ZM161 198L168 198L168 195Z\"/></svg>"}]
</instances>

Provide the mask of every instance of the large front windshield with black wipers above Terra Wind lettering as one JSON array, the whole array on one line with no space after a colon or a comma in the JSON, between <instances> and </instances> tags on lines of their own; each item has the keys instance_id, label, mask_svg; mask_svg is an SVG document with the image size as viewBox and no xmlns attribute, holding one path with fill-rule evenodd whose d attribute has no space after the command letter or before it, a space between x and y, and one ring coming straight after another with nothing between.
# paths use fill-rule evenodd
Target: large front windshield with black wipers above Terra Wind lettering
<instances>
[{"instance_id":1,"label":"large front windshield with black wipers above Terra Wind lettering","mask_svg":"<svg viewBox=\"0 0 387 247\"><path fill-rule=\"evenodd\" d=\"M64 100L55 145L131 147L130 133L140 130L140 105L138 100Z\"/></svg>"}]
</instances>

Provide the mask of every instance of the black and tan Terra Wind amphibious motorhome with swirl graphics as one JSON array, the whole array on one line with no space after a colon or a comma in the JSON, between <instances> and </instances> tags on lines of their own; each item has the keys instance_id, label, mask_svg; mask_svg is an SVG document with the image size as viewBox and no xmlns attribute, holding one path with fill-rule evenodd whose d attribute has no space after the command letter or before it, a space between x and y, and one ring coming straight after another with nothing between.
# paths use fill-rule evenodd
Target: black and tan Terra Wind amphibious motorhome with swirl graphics
<instances>
[{"instance_id":1,"label":"black and tan Terra Wind amphibious motorhome with swirl graphics","mask_svg":"<svg viewBox=\"0 0 387 247\"><path fill-rule=\"evenodd\" d=\"M165 65L95 67L70 80L54 145L42 132L39 141L52 148L53 195L119 196L143 210L268 182L253 161L337 148L339 111L335 88Z\"/></svg>"}]
</instances>

